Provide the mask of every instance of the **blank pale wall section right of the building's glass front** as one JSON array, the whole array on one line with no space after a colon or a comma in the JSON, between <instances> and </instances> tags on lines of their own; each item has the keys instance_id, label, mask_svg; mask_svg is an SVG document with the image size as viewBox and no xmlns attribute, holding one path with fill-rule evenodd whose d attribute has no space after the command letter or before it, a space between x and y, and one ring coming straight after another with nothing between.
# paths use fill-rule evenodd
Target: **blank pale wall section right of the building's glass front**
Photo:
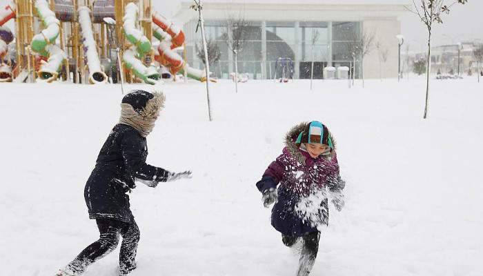
<instances>
[{"instance_id":1,"label":"blank pale wall section right of the building's glass front","mask_svg":"<svg viewBox=\"0 0 483 276\"><path fill-rule=\"evenodd\" d=\"M364 57L363 70L366 79L377 79L382 71L383 78L397 78L398 46L396 35L401 32L401 23L397 19L373 19L364 20L362 30L367 34L374 34L371 52ZM388 49L388 59L382 62L381 70L379 52L375 45L379 41L382 48ZM404 49L404 46L403 48Z\"/></svg>"}]
</instances>

